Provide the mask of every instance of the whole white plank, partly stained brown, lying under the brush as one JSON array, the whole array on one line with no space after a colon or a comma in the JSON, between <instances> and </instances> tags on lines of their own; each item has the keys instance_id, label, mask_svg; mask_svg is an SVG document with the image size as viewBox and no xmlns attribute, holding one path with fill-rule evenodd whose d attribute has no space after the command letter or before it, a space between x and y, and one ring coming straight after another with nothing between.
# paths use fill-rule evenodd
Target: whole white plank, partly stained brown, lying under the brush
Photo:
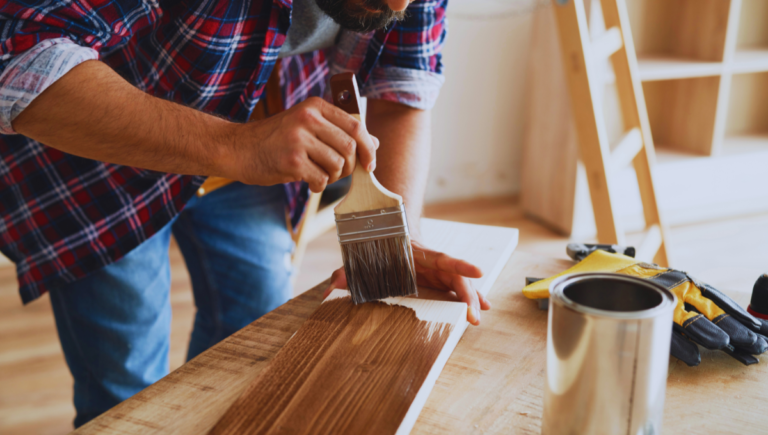
<instances>
[{"instance_id":1,"label":"whole white plank, partly stained brown, lying under the brush","mask_svg":"<svg viewBox=\"0 0 768 435\"><path fill-rule=\"evenodd\" d=\"M433 247L486 270L484 295L517 245L516 230L424 224ZM211 434L409 433L467 327L455 295L420 291L360 306L334 291Z\"/></svg>"}]
</instances>

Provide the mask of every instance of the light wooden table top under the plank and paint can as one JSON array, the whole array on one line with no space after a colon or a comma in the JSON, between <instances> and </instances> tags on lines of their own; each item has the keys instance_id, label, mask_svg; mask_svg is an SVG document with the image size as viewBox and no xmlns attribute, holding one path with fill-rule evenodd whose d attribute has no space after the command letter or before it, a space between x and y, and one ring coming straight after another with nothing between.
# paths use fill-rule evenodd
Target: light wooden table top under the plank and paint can
<instances>
[{"instance_id":1,"label":"light wooden table top under the plank and paint can","mask_svg":"<svg viewBox=\"0 0 768 435\"><path fill-rule=\"evenodd\" d=\"M546 361L546 311L522 296L525 277L571 263L515 252L489 294L493 309L456 346L414 434L538 434ZM322 283L184 364L77 434L203 434L322 301ZM745 305L749 294L727 292ZM671 358L666 433L762 433L768 363L743 366L703 351L699 367Z\"/></svg>"}]
</instances>

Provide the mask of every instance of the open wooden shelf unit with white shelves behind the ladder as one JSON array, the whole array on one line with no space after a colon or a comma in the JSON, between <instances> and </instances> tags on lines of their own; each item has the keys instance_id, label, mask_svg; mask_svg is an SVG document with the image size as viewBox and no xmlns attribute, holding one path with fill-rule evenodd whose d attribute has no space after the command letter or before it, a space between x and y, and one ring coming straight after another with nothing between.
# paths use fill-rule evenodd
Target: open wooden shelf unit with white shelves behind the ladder
<instances>
[{"instance_id":1,"label":"open wooden shelf unit with white shelves behind the ladder","mask_svg":"<svg viewBox=\"0 0 768 435\"><path fill-rule=\"evenodd\" d=\"M584 1L600 7L599 0ZM679 225L768 212L768 175L760 169L768 166L768 0L625 1L665 220ZM534 22L521 196L530 216L584 239L595 234L594 218L584 171L574 161L572 121L561 121L572 115L567 97L556 95L566 89L552 13L541 9ZM604 112L609 130L621 130L612 86ZM614 176L625 228L643 228L634 174Z\"/></svg>"}]
</instances>

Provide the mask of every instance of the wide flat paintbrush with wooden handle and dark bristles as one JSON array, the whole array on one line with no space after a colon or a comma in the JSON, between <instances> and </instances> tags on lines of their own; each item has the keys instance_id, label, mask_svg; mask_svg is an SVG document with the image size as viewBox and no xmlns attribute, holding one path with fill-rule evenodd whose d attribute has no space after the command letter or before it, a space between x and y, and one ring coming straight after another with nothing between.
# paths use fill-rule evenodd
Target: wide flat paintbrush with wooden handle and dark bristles
<instances>
[{"instance_id":1,"label":"wide flat paintbrush with wooden handle and dark bristles","mask_svg":"<svg viewBox=\"0 0 768 435\"><path fill-rule=\"evenodd\" d=\"M352 73L331 77L333 102L360 121ZM364 121L363 121L364 122ZM355 304L415 295L416 276L403 198L385 189L359 164L352 187L334 209L347 285Z\"/></svg>"}]
</instances>

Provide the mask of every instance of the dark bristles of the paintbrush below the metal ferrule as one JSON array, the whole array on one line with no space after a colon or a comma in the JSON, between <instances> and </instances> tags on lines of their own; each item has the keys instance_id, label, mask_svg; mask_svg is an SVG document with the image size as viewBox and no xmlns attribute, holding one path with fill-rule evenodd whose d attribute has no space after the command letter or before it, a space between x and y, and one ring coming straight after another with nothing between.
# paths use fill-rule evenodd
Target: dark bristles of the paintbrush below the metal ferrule
<instances>
[{"instance_id":1,"label":"dark bristles of the paintbrush below the metal ferrule","mask_svg":"<svg viewBox=\"0 0 768 435\"><path fill-rule=\"evenodd\" d=\"M410 237L346 243L341 255L355 304L417 294Z\"/></svg>"}]
</instances>

